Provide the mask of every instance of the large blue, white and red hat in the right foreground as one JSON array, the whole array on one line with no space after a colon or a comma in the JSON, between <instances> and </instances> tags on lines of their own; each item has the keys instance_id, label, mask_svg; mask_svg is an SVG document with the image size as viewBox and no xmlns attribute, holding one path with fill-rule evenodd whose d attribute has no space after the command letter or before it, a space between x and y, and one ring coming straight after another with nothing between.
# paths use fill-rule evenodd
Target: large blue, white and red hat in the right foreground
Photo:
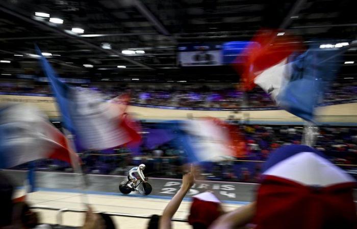
<instances>
[{"instance_id":1,"label":"large blue, white and red hat in the right foreground","mask_svg":"<svg viewBox=\"0 0 357 229\"><path fill-rule=\"evenodd\" d=\"M355 228L354 179L317 150L271 153L257 193L257 229Z\"/></svg>"}]
</instances>

